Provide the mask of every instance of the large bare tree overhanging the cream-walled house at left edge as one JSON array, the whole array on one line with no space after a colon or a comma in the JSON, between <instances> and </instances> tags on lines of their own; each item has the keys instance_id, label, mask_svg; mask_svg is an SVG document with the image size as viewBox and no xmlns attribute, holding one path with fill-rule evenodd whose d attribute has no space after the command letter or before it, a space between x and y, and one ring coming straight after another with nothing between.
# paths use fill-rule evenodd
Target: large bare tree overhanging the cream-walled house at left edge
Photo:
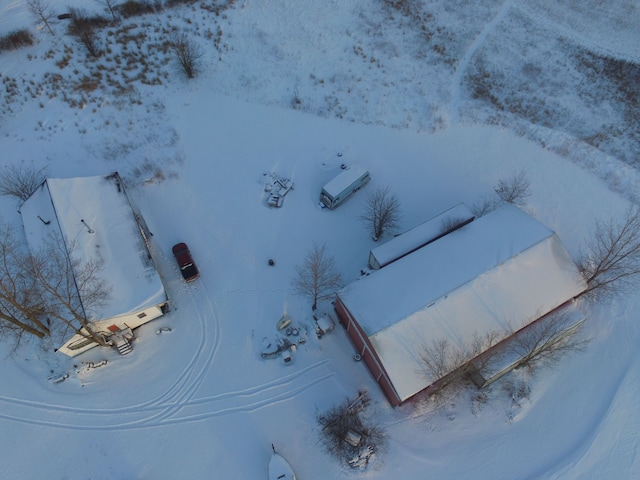
<instances>
[{"instance_id":1,"label":"large bare tree overhanging the cream-walled house at left edge","mask_svg":"<svg viewBox=\"0 0 640 480\"><path fill-rule=\"evenodd\" d=\"M92 330L90 314L110 295L100 277L101 264L73 258L62 239L51 237L42 251L29 254L13 230L2 226L0 239L0 325L14 333L61 340L69 332L107 345ZM74 247L71 246L73 253ZM59 338L58 338L59 337Z\"/></svg>"}]
</instances>

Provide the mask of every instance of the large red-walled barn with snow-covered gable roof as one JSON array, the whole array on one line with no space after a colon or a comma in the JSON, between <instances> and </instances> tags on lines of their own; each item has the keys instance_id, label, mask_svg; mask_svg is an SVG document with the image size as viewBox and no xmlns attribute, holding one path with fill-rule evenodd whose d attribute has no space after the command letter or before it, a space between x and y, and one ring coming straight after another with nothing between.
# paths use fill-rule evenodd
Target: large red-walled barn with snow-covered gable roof
<instances>
[{"instance_id":1,"label":"large red-walled barn with snow-covered gable roof","mask_svg":"<svg viewBox=\"0 0 640 480\"><path fill-rule=\"evenodd\" d=\"M505 340L571 309L584 289L556 234L507 205L361 277L338 293L335 308L357 353L399 405L450 373L428 373L422 359L429 345L444 340L465 349L489 334Z\"/></svg>"}]
</instances>

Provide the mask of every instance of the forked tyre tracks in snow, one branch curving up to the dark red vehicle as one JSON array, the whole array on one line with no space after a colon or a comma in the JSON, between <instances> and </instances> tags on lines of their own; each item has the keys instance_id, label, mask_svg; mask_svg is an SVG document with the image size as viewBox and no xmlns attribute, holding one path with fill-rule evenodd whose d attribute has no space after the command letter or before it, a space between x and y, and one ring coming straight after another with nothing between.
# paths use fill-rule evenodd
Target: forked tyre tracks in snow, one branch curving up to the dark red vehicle
<instances>
[{"instance_id":1,"label":"forked tyre tracks in snow, one branch curving up to the dark red vehicle","mask_svg":"<svg viewBox=\"0 0 640 480\"><path fill-rule=\"evenodd\" d=\"M200 325L197 348L182 372L161 395L113 408L83 408L0 396L0 419L69 430L159 427L255 411L294 398L335 375L326 368L330 360L325 359L258 385L196 397L215 361L221 333L215 303L207 297L202 281L200 283L200 288L189 286L186 289Z\"/></svg>"}]
</instances>

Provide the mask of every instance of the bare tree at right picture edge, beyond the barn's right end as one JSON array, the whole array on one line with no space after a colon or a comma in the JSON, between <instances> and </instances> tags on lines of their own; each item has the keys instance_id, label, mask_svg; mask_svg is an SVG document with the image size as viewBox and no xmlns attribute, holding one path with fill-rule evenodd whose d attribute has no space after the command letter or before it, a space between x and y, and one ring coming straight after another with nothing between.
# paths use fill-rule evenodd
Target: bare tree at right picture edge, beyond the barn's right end
<instances>
[{"instance_id":1,"label":"bare tree at right picture edge, beyond the barn's right end","mask_svg":"<svg viewBox=\"0 0 640 480\"><path fill-rule=\"evenodd\" d=\"M578 267L587 282L583 292L601 299L628 291L640 279L640 208L630 208L620 221L597 221L587 252Z\"/></svg>"}]
</instances>

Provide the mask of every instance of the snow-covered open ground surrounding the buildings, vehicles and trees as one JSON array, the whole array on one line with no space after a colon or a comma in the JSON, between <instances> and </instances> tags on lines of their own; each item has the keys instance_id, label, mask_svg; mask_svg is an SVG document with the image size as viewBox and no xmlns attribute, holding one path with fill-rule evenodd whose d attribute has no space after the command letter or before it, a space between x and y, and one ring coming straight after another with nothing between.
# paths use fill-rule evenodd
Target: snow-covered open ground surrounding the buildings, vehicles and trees
<instances>
[{"instance_id":1,"label":"snow-covered open ground surrounding the buildings, vehicles and trees","mask_svg":"<svg viewBox=\"0 0 640 480\"><path fill-rule=\"evenodd\" d=\"M364 192L318 207L341 163L365 165L367 188L391 187L403 228L524 169L526 210L577 257L596 218L640 198L636 3L223 3L125 20L90 59L63 22L52 37L25 2L0 0L0 35L36 38L0 52L0 162L54 177L118 170L172 304L125 357L0 347L1 476L266 478L273 443L300 479L640 478L637 295L583 305L588 349L537 370L518 403L503 382L392 409L341 329L315 338L290 286L314 241L347 281L375 245L358 220ZM172 27L203 48L194 80L166 56ZM295 182L280 209L265 204L271 173ZM0 198L19 225L16 207ZM171 256L179 241L201 270L193 284ZM259 355L285 309L309 331L288 366ZM54 384L51 370L71 376ZM315 416L362 388L389 443L354 472L323 452Z\"/></svg>"}]
</instances>

